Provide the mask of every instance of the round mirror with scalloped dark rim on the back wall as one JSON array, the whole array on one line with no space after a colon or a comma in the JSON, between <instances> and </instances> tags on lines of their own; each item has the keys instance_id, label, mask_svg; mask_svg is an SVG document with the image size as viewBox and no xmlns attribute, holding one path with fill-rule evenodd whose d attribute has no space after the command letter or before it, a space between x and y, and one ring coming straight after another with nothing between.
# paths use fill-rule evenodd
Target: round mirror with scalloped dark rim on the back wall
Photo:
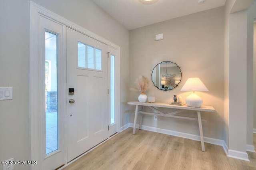
<instances>
[{"instance_id":1,"label":"round mirror with scalloped dark rim on the back wall","mask_svg":"<svg viewBox=\"0 0 256 170\"><path fill-rule=\"evenodd\" d=\"M181 81L180 67L171 61L163 61L154 67L151 77L154 85L160 90L172 90Z\"/></svg>"}]
</instances>

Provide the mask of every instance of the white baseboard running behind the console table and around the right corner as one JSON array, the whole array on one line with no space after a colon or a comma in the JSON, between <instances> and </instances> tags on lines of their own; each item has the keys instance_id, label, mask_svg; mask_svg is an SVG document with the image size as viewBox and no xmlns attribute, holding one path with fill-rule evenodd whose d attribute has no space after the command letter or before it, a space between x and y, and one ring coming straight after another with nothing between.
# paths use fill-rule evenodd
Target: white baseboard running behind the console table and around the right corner
<instances>
[{"instance_id":1,"label":"white baseboard running behind the console table and around the right corner","mask_svg":"<svg viewBox=\"0 0 256 170\"><path fill-rule=\"evenodd\" d=\"M133 123L130 123L129 127L133 127ZM139 125L136 125L136 128L139 128ZM150 127L150 126L145 126L145 125L142 125L141 129L152 131L152 132L163 133L163 134L169 134L169 135L172 135L172 136L178 136L178 137L187 138L187 139L191 139L191 140L200 141L200 136L194 135L194 134L177 132L177 131L174 131L174 130L167 130L167 129L157 128L157 127ZM237 151L237 150L228 149L228 145L226 144L226 142L224 142L224 140L204 137L204 142L222 146L228 157L250 161L248 159L248 154L246 152L240 152L240 151ZM251 149L251 146L250 146L250 149Z\"/></svg>"}]
</instances>

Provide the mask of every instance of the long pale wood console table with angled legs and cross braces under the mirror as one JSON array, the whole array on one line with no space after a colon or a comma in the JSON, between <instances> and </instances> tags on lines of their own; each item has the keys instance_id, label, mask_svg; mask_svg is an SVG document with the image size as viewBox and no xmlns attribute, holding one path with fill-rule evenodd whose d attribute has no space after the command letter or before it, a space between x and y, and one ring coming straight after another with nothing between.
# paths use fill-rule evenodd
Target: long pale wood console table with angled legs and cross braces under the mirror
<instances>
[{"instance_id":1,"label":"long pale wood console table with angled legs and cross braces under the mirror","mask_svg":"<svg viewBox=\"0 0 256 170\"><path fill-rule=\"evenodd\" d=\"M178 106L178 105L170 105L168 103L159 103L159 102L156 102L156 103L140 103L138 101L128 102L128 105L136 105L135 116L134 116L133 134L136 133L136 122L137 122L138 114L141 114L141 115L142 114L157 115L157 116L163 116L163 117L172 117L172 118L178 118L178 119L187 119L187 120L191 120L191 121L198 121L202 151L205 152L202 121L206 121L206 120L201 119L201 111L215 112L215 109L212 106L188 107L187 105ZM139 111L138 106L146 106L146 107L152 109L152 111L154 111L155 113L145 112L143 109L142 109L142 111ZM156 107L164 107L164 108L177 109L177 110L173 111L171 113L163 113L160 110L158 110ZM180 113L184 110L197 111L197 117L198 118L196 119L196 118L192 118L192 117L184 117L184 116L177 116L176 115L177 113ZM142 124L142 119L140 121L140 129L141 129L141 124Z\"/></svg>"}]
</instances>

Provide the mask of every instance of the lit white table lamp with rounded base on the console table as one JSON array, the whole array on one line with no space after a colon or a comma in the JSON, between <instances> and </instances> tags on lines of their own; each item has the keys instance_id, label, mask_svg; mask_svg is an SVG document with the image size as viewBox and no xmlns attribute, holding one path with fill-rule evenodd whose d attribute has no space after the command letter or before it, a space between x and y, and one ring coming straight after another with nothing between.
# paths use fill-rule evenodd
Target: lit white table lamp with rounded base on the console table
<instances>
[{"instance_id":1,"label":"lit white table lamp with rounded base on the console table","mask_svg":"<svg viewBox=\"0 0 256 170\"><path fill-rule=\"evenodd\" d=\"M195 91L208 91L204 83L198 78L189 78L180 91L193 91L186 98L186 104L190 107L201 107L203 104L202 98L196 95Z\"/></svg>"}]
</instances>

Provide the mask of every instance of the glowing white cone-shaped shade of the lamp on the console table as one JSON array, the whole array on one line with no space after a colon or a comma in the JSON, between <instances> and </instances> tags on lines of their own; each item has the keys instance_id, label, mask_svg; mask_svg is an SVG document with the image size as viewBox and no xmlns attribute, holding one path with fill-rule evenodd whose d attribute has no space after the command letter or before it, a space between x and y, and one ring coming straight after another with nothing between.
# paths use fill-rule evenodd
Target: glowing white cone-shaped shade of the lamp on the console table
<instances>
[{"instance_id":1,"label":"glowing white cone-shaped shade of the lamp on the console table","mask_svg":"<svg viewBox=\"0 0 256 170\"><path fill-rule=\"evenodd\" d=\"M189 78L180 91L208 91L204 83L198 78Z\"/></svg>"}]
</instances>

